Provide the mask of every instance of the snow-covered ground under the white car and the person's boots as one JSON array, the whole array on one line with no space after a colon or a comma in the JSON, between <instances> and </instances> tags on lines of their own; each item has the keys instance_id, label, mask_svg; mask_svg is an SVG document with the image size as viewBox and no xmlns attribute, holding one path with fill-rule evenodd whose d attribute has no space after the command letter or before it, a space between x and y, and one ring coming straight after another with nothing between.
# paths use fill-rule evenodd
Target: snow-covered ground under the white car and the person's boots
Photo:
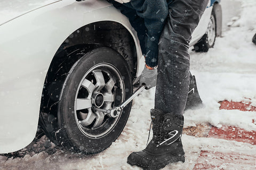
<instances>
[{"instance_id":1,"label":"snow-covered ground under the white car and the person's boots","mask_svg":"<svg viewBox=\"0 0 256 170\"><path fill-rule=\"evenodd\" d=\"M221 38L216 39L214 48L207 53L190 51L191 73L196 75L204 106L185 112L185 128L210 123L217 127L231 125L247 131L256 130L256 125L252 123L253 119L256 120L255 112L220 110L218 103L225 99L246 101L250 98L252 105L256 106L256 45L252 43L252 37L256 33L256 1L241 0L239 3L241 6L237 7L241 7L241 13L227 21L231 25L230 29L224 31ZM228 13L230 9L225 6L222 10L225 11L223 13ZM93 156L74 154L58 149L43 137L35 144L38 145L35 148L42 150L37 151L39 154L14 159L0 156L0 169L140 169L127 164L126 159L132 151L146 147L150 126L149 108L154 106L154 90L145 90L134 99L129 120L122 134L105 151ZM240 155L256 153L256 145L223 139L196 138L184 134L182 142L186 162L170 164L164 169L193 169L201 150L235 152ZM250 168L246 162L239 166L222 166L222 169L228 170Z\"/></svg>"}]
</instances>

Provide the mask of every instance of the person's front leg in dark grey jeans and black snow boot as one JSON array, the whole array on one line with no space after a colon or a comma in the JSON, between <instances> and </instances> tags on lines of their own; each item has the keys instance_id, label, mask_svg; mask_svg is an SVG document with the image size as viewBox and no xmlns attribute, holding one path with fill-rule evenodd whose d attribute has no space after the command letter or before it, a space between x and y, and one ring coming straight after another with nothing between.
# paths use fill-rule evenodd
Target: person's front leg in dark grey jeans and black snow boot
<instances>
[{"instance_id":1,"label":"person's front leg in dark grey jeans and black snow boot","mask_svg":"<svg viewBox=\"0 0 256 170\"><path fill-rule=\"evenodd\" d=\"M192 2L193 1L193 2ZM181 134L183 111L188 97L191 34L207 0L174 0L159 41L155 109L151 109L153 139L146 149L132 152L127 163L146 169L185 162Z\"/></svg>"}]
</instances>

